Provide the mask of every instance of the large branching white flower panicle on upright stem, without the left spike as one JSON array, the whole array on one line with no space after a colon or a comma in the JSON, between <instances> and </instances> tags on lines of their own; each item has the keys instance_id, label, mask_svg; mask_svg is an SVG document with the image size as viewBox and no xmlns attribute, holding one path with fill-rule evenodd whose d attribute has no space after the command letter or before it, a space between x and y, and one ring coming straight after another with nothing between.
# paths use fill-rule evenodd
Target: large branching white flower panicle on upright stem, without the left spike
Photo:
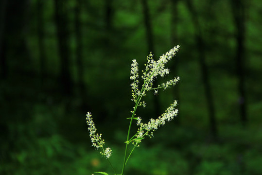
<instances>
[{"instance_id":1,"label":"large branching white flower panicle on upright stem, without the left spike","mask_svg":"<svg viewBox=\"0 0 262 175\"><path fill-rule=\"evenodd\" d=\"M127 141L127 143L132 142L135 146L138 146L138 144L141 142L142 139L144 139L144 136L151 137L153 135L153 131L155 131L160 125L164 125L166 121L170 122L174 119L174 117L177 116L178 109L175 109L175 106L177 105L177 101L175 101L173 104L170 105L170 107L167 108L165 113L163 113L160 117L158 117L156 120L151 119L148 123L142 123L141 118L134 116L136 115L136 109L138 106L145 107L145 102L141 102L141 98L146 95L146 91L153 90L154 94L157 95L158 89L163 88L167 89L170 88L172 85L176 85L178 81L180 80L179 77L175 77L172 80L169 80L165 83L162 83L161 85L157 85L156 88L153 87L153 82L157 75L160 75L161 77L169 74L169 69L165 68L165 64L172 59L173 56L179 51L179 45L172 48L169 52L163 54L160 56L160 58L155 61L153 59L153 54L150 53L147 56L147 64L145 64L146 68L145 71L142 70L142 80L143 85L142 88L139 89L139 73L138 73L138 63L136 60L133 60L133 63L131 64L131 76L130 79L134 80L131 84L132 88L132 100L136 103L134 110L131 111L133 113L131 120L137 120L137 125L139 126L137 134L135 134L130 140ZM151 132L151 133L149 133Z\"/></svg>"}]
</instances>

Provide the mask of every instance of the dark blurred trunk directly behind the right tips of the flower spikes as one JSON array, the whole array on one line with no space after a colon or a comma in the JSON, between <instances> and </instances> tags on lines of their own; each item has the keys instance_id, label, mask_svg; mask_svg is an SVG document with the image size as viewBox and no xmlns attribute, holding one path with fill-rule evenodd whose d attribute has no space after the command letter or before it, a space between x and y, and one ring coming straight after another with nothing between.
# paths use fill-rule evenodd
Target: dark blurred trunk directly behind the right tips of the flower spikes
<instances>
[{"instance_id":1,"label":"dark blurred trunk directly behind the right tips of the flower spikes","mask_svg":"<svg viewBox=\"0 0 262 175\"><path fill-rule=\"evenodd\" d=\"M178 44L178 34L177 34L177 25L178 25L178 0L171 0L171 47L174 47ZM175 57L174 64L171 69L174 71L175 76L178 74L178 57ZM179 101L179 83L174 87L174 97L175 100ZM179 105L177 106L179 109ZM176 124L180 124L180 118L176 119Z\"/></svg>"}]
</instances>

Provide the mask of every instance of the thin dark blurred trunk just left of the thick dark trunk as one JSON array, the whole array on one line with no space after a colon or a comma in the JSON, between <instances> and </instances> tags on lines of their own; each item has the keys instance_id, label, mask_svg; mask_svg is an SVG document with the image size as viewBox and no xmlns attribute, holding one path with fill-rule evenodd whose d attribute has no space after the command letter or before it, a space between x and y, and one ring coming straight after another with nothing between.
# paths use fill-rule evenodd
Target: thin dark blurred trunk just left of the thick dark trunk
<instances>
[{"instance_id":1,"label":"thin dark blurred trunk just left of the thick dark trunk","mask_svg":"<svg viewBox=\"0 0 262 175\"><path fill-rule=\"evenodd\" d=\"M45 0L38 0L37 5L37 34L38 34L38 48L39 48L39 58L40 58L40 83L41 87L45 84L46 78L46 51L44 42L44 18L43 18L43 6Z\"/></svg>"}]
</instances>

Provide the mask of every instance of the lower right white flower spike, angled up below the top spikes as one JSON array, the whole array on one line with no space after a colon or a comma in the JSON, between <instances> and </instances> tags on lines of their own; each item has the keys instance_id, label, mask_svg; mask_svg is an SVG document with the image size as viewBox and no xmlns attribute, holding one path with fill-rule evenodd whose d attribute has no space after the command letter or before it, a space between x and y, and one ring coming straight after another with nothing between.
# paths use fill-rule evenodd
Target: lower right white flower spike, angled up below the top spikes
<instances>
[{"instance_id":1,"label":"lower right white flower spike, angled up below the top spikes","mask_svg":"<svg viewBox=\"0 0 262 175\"><path fill-rule=\"evenodd\" d=\"M150 119L148 123L142 123L141 118L137 118L137 125L140 126L138 129L138 132L136 134L137 142L141 142L144 136L151 136L153 135L153 132L149 134L149 131L155 131L160 125L164 125L167 122L170 122L174 119L174 117L177 116L178 109L175 109L175 106L177 105L177 101L174 101L173 104L171 104L165 113L159 116L158 119Z\"/></svg>"}]
</instances>

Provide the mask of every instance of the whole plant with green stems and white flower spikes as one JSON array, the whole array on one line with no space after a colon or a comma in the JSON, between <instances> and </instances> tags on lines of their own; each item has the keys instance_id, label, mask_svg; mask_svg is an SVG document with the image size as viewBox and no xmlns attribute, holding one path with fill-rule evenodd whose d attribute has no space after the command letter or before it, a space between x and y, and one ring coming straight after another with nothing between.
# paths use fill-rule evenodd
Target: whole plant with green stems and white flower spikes
<instances>
[{"instance_id":1,"label":"whole plant with green stems and white flower spikes","mask_svg":"<svg viewBox=\"0 0 262 175\"><path fill-rule=\"evenodd\" d=\"M151 136L153 136L153 132L157 130L157 128L160 125L164 125L166 121L170 122L171 120L174 119L174 117L177 116L178 109L175 109L175 106L177 105L177 101L174 101L174 103L171 104L161 116L159 116L157 119L150 119L148 123L142 123L142 119L140 117L135 117L137 108L139 106L143 106L143 107L146 106L146 103L144 101L142 102L141 99L143 96L146 95L147 91L153 90L154 93L156 94L158 89L160 88L167 89L171 87L172 85L175 85L179 81L180 78L175 77L174 79L169 80L166 83L162 83L161 85L157 85L157 87L153 88L153 82L155 78L157 78L157 75L164 77L165 75L169 74L169 69L165 68L165 64L169 60L171 60L173 56L175 56L175 54L179 51L179 47L180 46L178 45L175 46L169 52L160 56L160 58L157 61L153 59L152 53L150 53L149 56L147 56L147 64L145 64L146 68L145 68L145 71L142 70L143 75L141 76L142 81L143 81L142 88L139 88L138 63L135 59L132 60L133 63L131 64L130 79L133 81L131 83L132 101L134 101L135 106L133 107L133 110L131 111L132 116L130 118L127 118L130 120L130 123L129 123L128 132L127 132L127 138L126 138L126 141L124 142L125 143L125 152L124 152L124 159L123 159L121 175L124 174L126 163L128 159L130 158L132 152L134 151L136 147L139 147L139 144L141 143L141 141L146 136L149 136L151 138ZM136 124L138 126L138 131L135 135L130 137L130 130L131 130L133 121L137 122ZM87 124L89 126L88 130L90 133L89 136L91 138L92 146L96 147L97 149L98 148L101 149L100 154L108 160L115 175L117 175L116 171L114 170L112 164L110 163L108 159L112 154L112 150L109 147L104 148L105 140L102 139L102 134L96 133L97 129L95 127L95 124L93 122L92 115L90 112L87 112ZM128 153L127 148L130 143L133 144L133 149ZM108 175L105 172L95 172L95 173Z\"/></svg>"}]
</instances>

